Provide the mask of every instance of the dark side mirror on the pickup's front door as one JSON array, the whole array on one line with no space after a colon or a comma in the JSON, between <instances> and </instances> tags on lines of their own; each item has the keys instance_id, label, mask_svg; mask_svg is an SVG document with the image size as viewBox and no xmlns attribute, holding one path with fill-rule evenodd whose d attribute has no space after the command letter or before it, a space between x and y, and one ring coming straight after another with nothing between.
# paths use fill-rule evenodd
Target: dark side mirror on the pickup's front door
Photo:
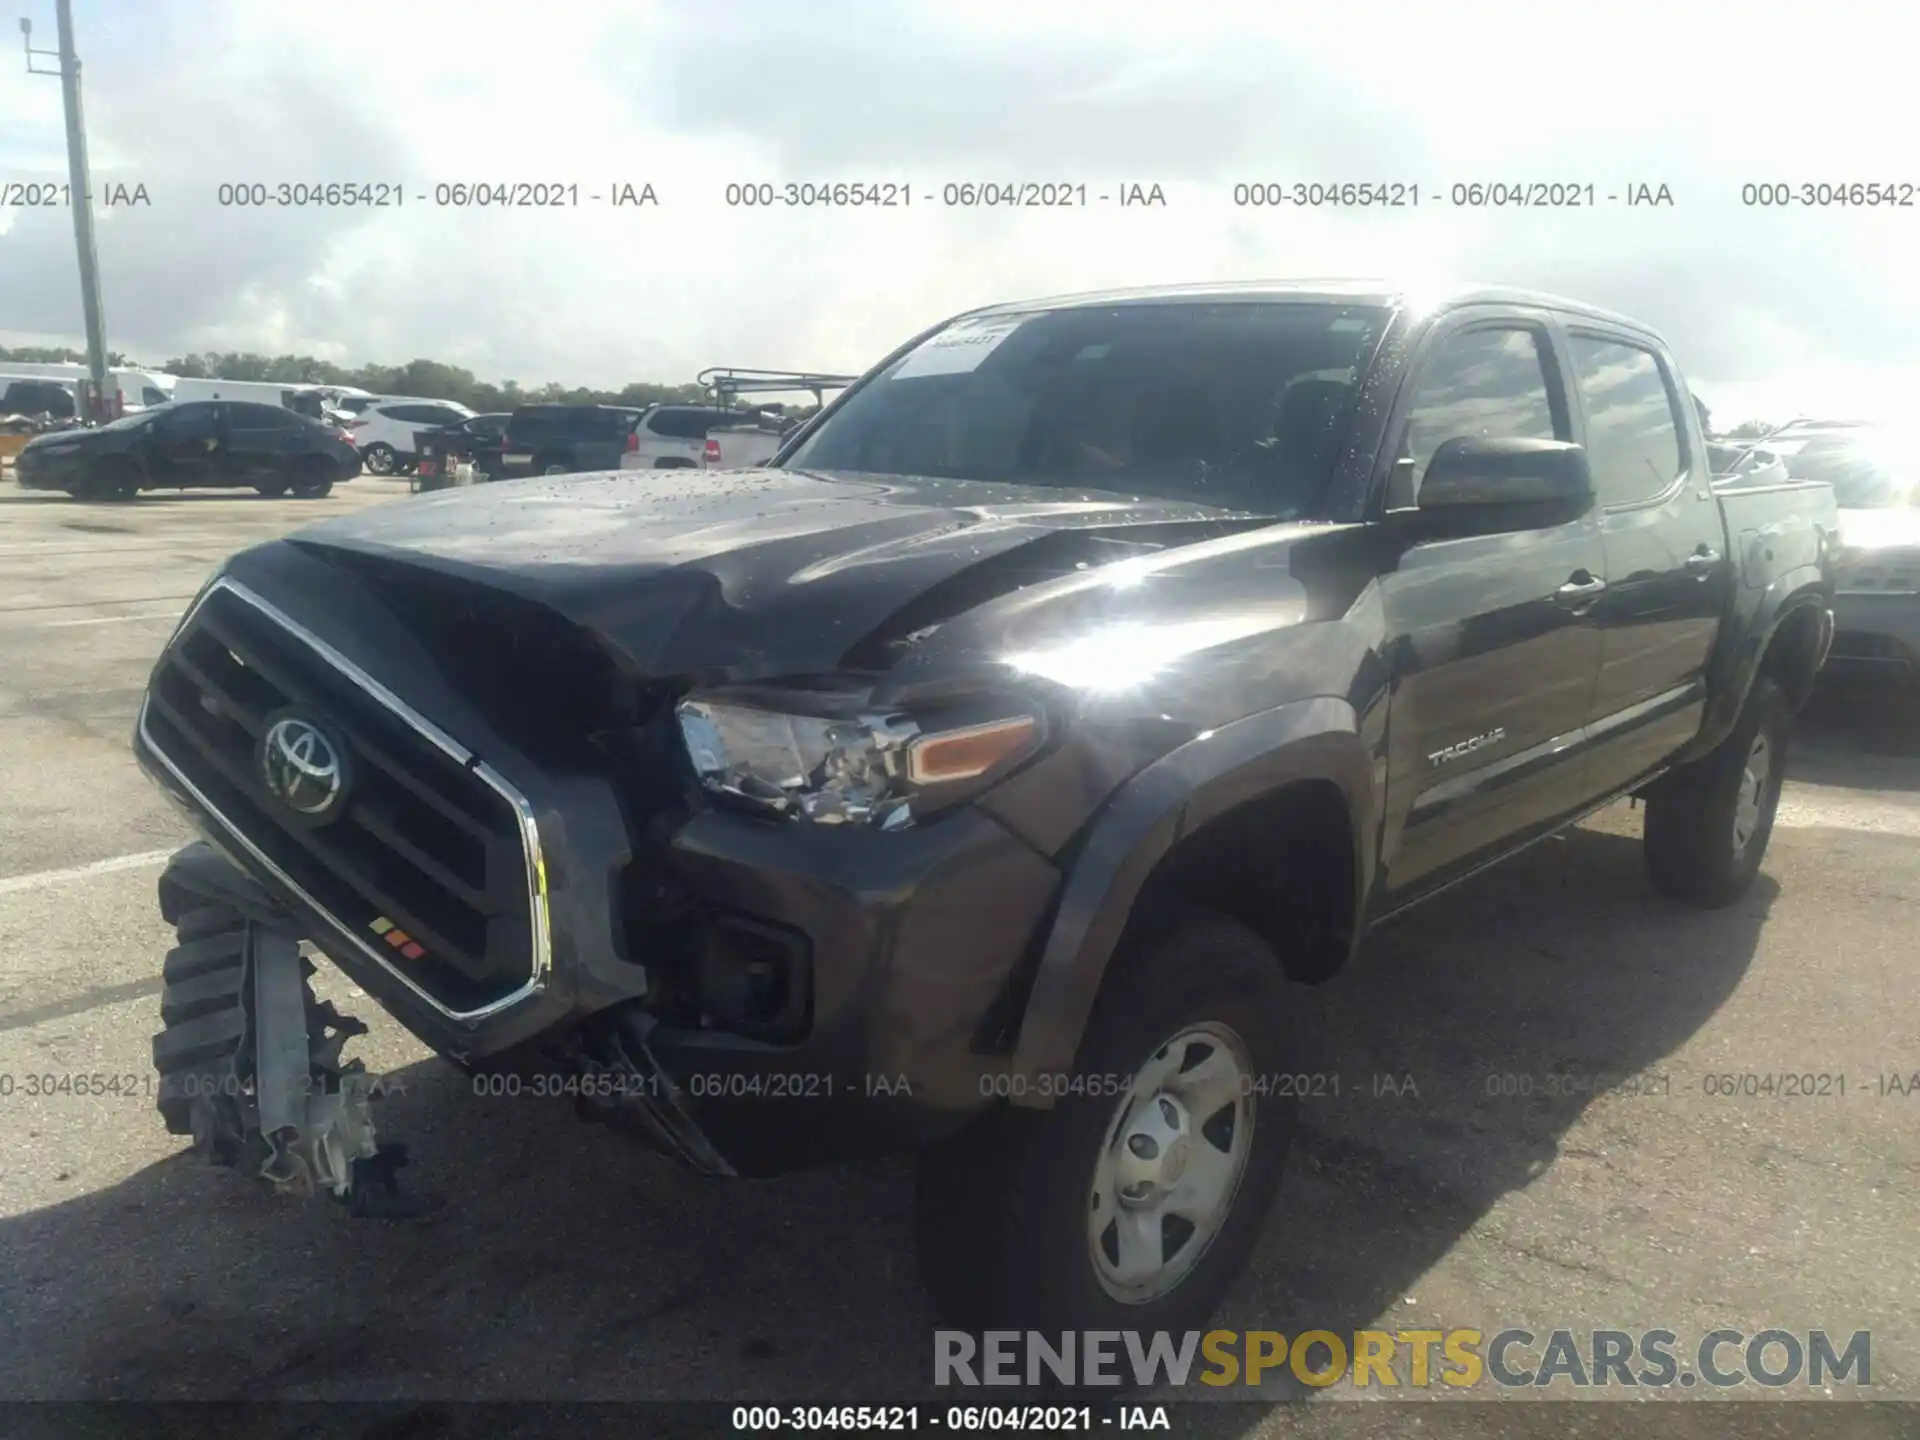
<instances>
[{"instance_id":1,"label":"dark side mirror on the pickup's front door","mask_svg":"<svg viewBox=\"0 0 1920 1440\"><path fill-rule=\"evenodd\" d=\"M1538 530L1586 515L1594 476L1586 449L1565 440L1457 436L1427 463L1415 503L1444 530Z\"/></svg>"}]
</instances>

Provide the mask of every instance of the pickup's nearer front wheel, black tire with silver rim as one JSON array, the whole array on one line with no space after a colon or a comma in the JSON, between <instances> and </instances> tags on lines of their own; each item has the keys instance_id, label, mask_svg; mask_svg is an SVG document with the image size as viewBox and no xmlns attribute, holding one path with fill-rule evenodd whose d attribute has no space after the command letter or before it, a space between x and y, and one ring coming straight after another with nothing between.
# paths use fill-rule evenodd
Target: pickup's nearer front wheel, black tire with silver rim
<instances>
[{"instance_id":1,"label":"pickup's nearer front wheel, black tire with silver rim","mask_svg":"<svg viewBox=\"0 0 1920 1440\"><path fill-rule=\"evenodd\" d=\"M995 1110L927 1150L922 1275L964 1329L1198 1329L1260 1236L1296 1102L1288 981L1198 914L1116 960L1052 1110Z\"/></svg>"}]
</instances>

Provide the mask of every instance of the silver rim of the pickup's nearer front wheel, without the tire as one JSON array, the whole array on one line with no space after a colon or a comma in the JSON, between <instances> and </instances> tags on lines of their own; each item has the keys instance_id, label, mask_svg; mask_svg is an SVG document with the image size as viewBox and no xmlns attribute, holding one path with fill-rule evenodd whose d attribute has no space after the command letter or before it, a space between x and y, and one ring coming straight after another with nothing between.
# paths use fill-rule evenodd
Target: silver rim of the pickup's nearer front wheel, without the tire
<instances>
[{"instance_id":1,"label":"silver rim of the pickup's nearer front wheel, without the tire","mask_svg":"<svg viewBox=\"0 0 1920 1440\"><path fill-rule=\"evenodd\" d=\"M1194 1025L1116 1104L1087 1206L1094 1273L1116 1300L1171 1292L1225 1225L1254 1144L1250 1073L1238 1035Z\"/></svg>"}]
</instances>

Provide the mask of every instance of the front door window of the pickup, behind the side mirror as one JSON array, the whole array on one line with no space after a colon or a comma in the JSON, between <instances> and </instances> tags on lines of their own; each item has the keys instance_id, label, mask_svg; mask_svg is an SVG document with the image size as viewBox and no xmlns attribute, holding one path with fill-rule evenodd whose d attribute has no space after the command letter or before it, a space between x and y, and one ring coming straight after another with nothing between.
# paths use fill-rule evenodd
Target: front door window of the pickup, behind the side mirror
<instances>
[{"instance_id":1,"label":"front door window of the pickup, behind the side mirror","mask_svg":"<svg viewBox=\"0 0 1920 1440\"><path fill-rule=\"evenodd\" d=\"M1434 451L1461 436L1565 440L1553 422L1538 332L1500 326L1463 330L1440 342L1413 392L1402 440L1402 459L1413 461L1405 503L1419 497Z\"/></svg>"}]
</instances>

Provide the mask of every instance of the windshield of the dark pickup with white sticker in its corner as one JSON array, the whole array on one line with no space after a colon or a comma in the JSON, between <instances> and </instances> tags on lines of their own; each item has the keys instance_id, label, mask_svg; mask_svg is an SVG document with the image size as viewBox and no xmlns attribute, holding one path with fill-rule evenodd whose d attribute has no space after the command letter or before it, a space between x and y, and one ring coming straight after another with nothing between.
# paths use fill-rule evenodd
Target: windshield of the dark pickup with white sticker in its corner
<instances>
[{"instance_id":1,"label":"windshield of the dark pickup with white sticker in its corner","mask_svg":"<svg viewBox=\"0 0 1920 1440\"><path fill-rule=\"evenodd\" d=\"M787 465L1306 518L1386 319L1325 301L960 319L852 392Z\"/></svg>"}]
</instances>

